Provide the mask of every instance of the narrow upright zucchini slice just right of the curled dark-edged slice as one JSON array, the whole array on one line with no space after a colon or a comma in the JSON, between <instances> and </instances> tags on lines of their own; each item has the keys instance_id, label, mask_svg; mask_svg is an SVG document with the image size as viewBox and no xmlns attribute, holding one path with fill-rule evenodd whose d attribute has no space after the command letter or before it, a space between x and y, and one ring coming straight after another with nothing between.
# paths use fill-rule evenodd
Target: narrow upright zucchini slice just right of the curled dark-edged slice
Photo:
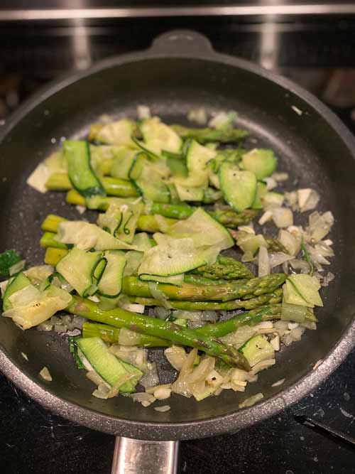
<instances>
[{"instance_id":1,"label":"narrow upright zucchini slice just right of the curled dark-edged slice","mask_svg":"<svg viewBox=\"0 0 355 474\"><path fill-rule=\"evenodd\" d=\"M97 289L106 298L117 298L122 289L122 278L126 267L126 256L124 252L105 252L104 258L107 265L101 279L97 284Z\"/></svg>"}]
</instances>

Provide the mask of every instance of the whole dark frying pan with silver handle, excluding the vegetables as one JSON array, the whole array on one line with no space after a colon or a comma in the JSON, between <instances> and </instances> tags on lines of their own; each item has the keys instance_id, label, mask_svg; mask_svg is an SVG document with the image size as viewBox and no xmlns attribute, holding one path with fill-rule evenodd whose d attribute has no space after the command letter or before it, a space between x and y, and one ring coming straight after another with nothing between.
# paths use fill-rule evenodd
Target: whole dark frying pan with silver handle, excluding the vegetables
<instances>
[{"instance_id":1,"label":"whole dark frying pan with silver handle, excluding the vegetables","mask_svg":"<svg viewBox=\"0 0 355 474\"><path fill-rule=\"evenodd\" d=\"M148 104L170 123L184 122L196 107L238 111L239 126L255 137L251 146L271 147L280 157L280 169L292 176L288 187L315 188L322 197L320 211L331 210L336 217L331 235L336 279L324 291L318 330L283 348L280 362L250 384L248 394L224 390L198 403L173 396L164 413L125 397L102 401L91 396L92 384L72 362L65 338L23 332L1 318L1 370L18 387L72 421L123 437L117 438L114 472L173 472L177 444L171 440L236 432L275 414L322 382L354 347L355 141L327 107L292 82L216 53L198 33L165 33L146 51L104 60L54 82L9 119L0 136L1 249L15 248L31 264L42 262L43 217L78 215L63 205L62 195L29 188L28 174L64 137L84 136L102 114L134 117L138 104ZM168 363L159 350L152 357L165 382L171 375ZM317 361L322 362L315 368ZM38 378L43 365L53 382ZM282 385L272 387L283 378ZM258 392L264 394L262 402L238 410L243 399Z\"/></svg>"}]
</instances>

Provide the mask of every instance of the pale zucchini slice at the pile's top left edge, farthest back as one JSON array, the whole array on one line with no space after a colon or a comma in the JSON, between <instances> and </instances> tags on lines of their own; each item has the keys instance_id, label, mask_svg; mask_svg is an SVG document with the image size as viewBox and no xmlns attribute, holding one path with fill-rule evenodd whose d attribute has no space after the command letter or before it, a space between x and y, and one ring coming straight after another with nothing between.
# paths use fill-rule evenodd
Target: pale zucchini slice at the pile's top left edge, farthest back
<instances>
[{"instance_id":1,"label":"pale zucchini slice at the pile's top left edge, farthest back","mask_svg":"<svg viewBox=\"0 0 355 474\"><path fill-rule=\"evenodd\" d=\"M95 136L96 141L108 145L128 146L136 148L131 136L136 130L135 122L128 119L121 119L117 122L102 126Z\"/></svg>"}]
</instances>

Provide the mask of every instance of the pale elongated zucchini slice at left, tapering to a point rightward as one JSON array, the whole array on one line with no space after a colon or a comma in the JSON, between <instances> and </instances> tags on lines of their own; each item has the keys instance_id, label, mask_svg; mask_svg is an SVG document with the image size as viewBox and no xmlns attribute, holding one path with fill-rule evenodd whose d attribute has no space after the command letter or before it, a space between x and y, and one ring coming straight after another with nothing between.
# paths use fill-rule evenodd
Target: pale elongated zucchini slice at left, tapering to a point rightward
<instances>
[{"instance_id":1,"label":"pale elongated zucchini slice at left, tapering to a point rightward","mask_svg":"<svg viewBox=\"0 0 355 474\"><path fill-rule=\"evenodd\" d=\"M60 222L56 239L65 244L78 245L81 249L134 250L130 244L83 220Z\"/></svg>"}]
</instances>

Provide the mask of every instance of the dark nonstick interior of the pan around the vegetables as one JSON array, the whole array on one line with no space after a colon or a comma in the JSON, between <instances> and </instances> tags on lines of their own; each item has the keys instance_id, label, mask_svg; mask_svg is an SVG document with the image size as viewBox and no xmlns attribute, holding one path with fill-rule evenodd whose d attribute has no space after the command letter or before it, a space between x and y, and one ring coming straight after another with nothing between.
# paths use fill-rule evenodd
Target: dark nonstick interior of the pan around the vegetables
<instances>
[{"instance_id":1,"label":"dark nonstick interior of the pan around the vegetables","mask_svg":"<svg viewBox=\"0 0 355 474\"><path fill-rule=\"evenodd\" d=\"M169 399L170 411L144 409L131 399L102 401L91 396L93 385L75 367L60 335L38 330L26 332L6 318L0 320L0 344L23 373L58 397L101 414L146 422L182 423L230 414L252 394L271 397L295 384L315 362L326 357L352 319L355 304L355 215L353 190L355 163L344 142L310 104L271 80L242 68L208 60L155 58L132 61L94 72L67 85L28 112L5 137L0 147L1 235L0 248L17 249L28 264L40 264L40 222L48 213L80 218L65 205L62 193L40 195L26 186L36 164L60 146L65 138L87 133L89 124L102 114L136 117L136 106L146 104L168 122L185 122L190 109L207 112L234 109L239 125L256 139L249 146L266 146L279 157L280 171L290 173L287 188L312 187L322 196L320 210L332 210L336 225L330 238L336 258L335 281L324 289L324 308L317 311L317 331L307 331L302 340L283 348L278 363L261 372L246 394L224 390L215 398L195 402L180 396ZM296 113L297 107L302 114ZM297 221L303 223L306 221ZM275 230L274 230L275 232ZM28 362L21 357L28 355ZM162 379L170 377L168 362L156 351ZM50 384L38 378L47 366ZM285 378L283 385L271 384Z\"/></svg>"}]
</instances>

